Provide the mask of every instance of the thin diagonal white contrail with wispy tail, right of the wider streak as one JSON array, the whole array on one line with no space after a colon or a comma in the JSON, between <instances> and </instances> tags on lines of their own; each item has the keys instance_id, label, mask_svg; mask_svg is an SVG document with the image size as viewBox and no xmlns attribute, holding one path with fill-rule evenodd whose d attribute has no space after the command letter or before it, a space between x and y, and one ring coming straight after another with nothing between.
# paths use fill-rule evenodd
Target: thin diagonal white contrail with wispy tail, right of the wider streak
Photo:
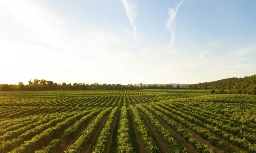
<instances>
[{"instance_id":1,"label":"thin diagonal white contrail with wispy tail, right of the wider streak","mask_svg":"<svg viewBox=\"0 0 256 153\"><path fill-rule=\"evenodd\" d=\"M177 6L177 8L176 9L174 9L174 8L169 8L169 19L167 20L167 27L166 27L166 29L165 29L165 31L163 32L163 34L166 32L166 30L169 28L169 26L170 26L170 24L172 23L172 21L175 19L175 16L176 16L176 13L177 13L177 11L178 11L178 8L181 6L181 4L182 4L182 2L183 2L184 0L182 0L181 2L180 2L180 4ZM172 29L172 28L170 28L170 32L171 32L171 37L172 37L172 41L171 41L171 47L173 46L173 44L174 44L174 39L175 39L175 32L174 32L174 30ZM163 35L162 34L162 35Z\"/></svg>"}]
</instances>

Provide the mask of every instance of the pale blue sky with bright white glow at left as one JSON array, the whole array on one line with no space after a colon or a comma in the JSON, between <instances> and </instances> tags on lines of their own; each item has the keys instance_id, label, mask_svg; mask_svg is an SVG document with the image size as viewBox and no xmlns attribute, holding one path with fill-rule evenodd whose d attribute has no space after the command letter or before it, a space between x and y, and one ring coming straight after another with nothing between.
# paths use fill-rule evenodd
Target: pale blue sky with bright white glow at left
<instances>
[{"instance_id":1,"label":"pale blue sky with bright white glow at left","mask_svg":"<svg viewBox=\"0 0 256 153\"><path fill-rule=\"evenodd\" d=\"M256 1L0 0L0 84L256 74Z\"/></svg>"}]
</instances>

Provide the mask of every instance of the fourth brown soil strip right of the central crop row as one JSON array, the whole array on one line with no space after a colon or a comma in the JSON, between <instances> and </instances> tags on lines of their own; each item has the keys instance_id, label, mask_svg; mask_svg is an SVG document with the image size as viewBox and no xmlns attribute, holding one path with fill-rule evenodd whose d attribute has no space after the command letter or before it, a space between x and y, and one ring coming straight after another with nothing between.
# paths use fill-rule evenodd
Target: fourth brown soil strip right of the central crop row
<instances>
[{"instance_id":1,"label":"fourth brown soil strip right of the central crop row","mask_svg":"<svg viewBox=\"0 0 256 153\"><path fill-rule=\"evenodd\" d=\"M152 108L154 108L153 106L151 106ZM156 108L154 108L156 109ZM157 109L156 109L157 110ZM160 111L159 111L160 112ZM160 112L161 113L161 112ZM162 113L163 114L163 113ZM154 114L155 115L155 114ZM178 126L181 126L181 128L185 129L188 133L190 133L193 137L195 137L196 139L198 139L199 141L201 141L203 144L205 145L208 145L210 147L212 147L214 149L214 151L216 151L217 153L225 153L224 150L221 150L221 149L218 149L216 146L213 146L211 142L205 140L204 138L202 138L201 136L199 136L198 134L196 134L195 132L193 132L192 130L190 130L189 128L186 128L185 126L183 126L182 124L180 124L179 122L173 120L172 118L170 118L169 116L167 116L166 114L163 114L165 115L168 119L176 122L176 124ZM156 116L156 115L155 115ZM158 120L161 120L159 117L158 117ZM161 120L162 121L162 120ZM164 122L164 121L163 121Z\"/></svg>"}]
</instances>

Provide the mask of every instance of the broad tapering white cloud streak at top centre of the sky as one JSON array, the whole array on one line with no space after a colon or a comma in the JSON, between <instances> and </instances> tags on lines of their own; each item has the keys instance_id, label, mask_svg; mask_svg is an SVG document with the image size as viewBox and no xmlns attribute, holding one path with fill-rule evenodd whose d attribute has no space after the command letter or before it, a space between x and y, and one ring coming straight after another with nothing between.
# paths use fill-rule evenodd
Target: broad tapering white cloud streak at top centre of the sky
<instances>
[{"instance_id":1,"label":"broad tapering white cloud streak at top centre of the sky","mask_svg":"<svg viewBox=\"0 0 256 153\"><path fill-rule=\"evenodd\" d=\"M138 44L137 27L135 25L135 18L136 18L136 15L137 15L137 5L132 0L121 0L121 1L125 6L125 11L126 11L126 14L129 18L130 25L133 29L133 36L134 36L134 39L136 41L136 44L137 44L138 48L141 50L141 48L139 47L139 44Z\"/></svg>"}]
</instances>

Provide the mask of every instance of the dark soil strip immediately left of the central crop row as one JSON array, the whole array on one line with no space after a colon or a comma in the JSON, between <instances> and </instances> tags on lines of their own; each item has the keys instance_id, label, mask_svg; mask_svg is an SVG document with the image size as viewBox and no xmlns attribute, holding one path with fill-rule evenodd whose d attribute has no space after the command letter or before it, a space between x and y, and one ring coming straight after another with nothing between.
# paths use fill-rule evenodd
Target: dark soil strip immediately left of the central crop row
<instances>
[{"instance_id":1,"label":"dark soil strip immediately left of the central crop row","mask_svg":"<svg viewBox=\"0 0 256 153\"><path fill-rule=\"evenodd\" d=\"M121 118L121 113L120 109L117 112L117 117L113 122L113 128L111 129L110 132L110 138L108 141L108 146L106 148L106 153L116 153L116 148L117 148L117 134L118 134L118 129L119 129L119 122Z\"/></svg>"}]
</instances>

